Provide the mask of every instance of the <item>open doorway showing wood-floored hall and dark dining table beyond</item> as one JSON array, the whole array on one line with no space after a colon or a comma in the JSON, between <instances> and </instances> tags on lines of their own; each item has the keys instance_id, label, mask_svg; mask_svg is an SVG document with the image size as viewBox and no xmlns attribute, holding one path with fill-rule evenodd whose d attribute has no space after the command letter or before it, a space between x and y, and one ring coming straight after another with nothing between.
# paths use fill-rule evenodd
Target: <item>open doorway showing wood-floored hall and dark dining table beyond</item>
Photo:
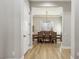
<instances>
[{"instance_id":1,"label":"open doorway showing wood-floored hall and dark dining table beyond","mask_svg":"<svg viewBox=\"0 0 79 59\"><path fill-rule=\"evenodd\" d=\"M27 59L71 57L71 2L53 3L57 5L46 6L47 2L31 2L32 49L25 55Z\"/></svg>"}]
</instances>

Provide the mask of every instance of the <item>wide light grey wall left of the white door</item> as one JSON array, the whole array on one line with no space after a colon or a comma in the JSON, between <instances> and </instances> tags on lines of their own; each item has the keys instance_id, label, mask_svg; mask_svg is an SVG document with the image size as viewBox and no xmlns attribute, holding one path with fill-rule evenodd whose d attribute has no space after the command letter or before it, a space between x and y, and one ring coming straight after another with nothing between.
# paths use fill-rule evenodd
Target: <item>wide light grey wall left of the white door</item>
<instances>
[{"instance_id":1,"label":"wide light grey wall left of the white door","mask_svg":"<svg viewBox=\"0 0 79 59\"><path fill-rule=\"evenodd\" d=\"M0 59L20 59L22 57L23 4L23 0L0 0Z\"/></svg>"}]
</instances>

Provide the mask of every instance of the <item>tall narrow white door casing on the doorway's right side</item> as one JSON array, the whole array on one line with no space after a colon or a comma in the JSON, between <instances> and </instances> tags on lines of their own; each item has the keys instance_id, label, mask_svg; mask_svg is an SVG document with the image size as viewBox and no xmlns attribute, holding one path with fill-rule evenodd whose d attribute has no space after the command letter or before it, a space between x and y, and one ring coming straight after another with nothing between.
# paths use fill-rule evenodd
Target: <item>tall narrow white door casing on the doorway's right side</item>
<instances>
[{"instance_id":1,"label":"tall narrow white door casing on the doorway's right side","mask_svg":"<svg viewBox=\"0 0 79 59\"><path fill-rule=\"evenodd\" d=\"M71 13L71 56L75 59L75 0L72 0L72 13Z\"/></svg>"}]
</instances>

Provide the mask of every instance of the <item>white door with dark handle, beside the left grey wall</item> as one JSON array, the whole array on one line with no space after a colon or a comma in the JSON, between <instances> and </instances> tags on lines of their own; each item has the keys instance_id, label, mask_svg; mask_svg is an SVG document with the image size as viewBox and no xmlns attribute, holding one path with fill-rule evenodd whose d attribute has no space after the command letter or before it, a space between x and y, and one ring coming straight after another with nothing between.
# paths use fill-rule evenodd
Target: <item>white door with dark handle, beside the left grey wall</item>
<instances>
[{"instance_id":1,"label":"white door with dark handle, beside the left grey wall","mask_svg":"<svg viewBox=\"0 0 79 59\"><path fill-rule=\"evenodd\" d=\"M30 9L29 4L24 3L24 19L22 20L22 51L23 54L30 48Z\"/></svg>"}]
</instances>

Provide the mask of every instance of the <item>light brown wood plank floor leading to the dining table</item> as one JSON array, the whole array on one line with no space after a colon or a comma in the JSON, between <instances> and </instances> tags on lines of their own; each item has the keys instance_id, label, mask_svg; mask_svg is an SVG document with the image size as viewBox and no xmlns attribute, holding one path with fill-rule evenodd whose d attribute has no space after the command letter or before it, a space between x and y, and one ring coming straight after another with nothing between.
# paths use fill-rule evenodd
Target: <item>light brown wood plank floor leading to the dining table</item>
<instances>
[{"instance_id":1,"label":"light brown wood plank floor leading to the dining table","mask_svg":"<svg viewBox=\"0 0 79 59\"><path fill-rule=\"evenodd\" d=\"M25 59L70 59L70 50L57 44L37 44L25 54Z\"/></svg>"}]
</instances>

